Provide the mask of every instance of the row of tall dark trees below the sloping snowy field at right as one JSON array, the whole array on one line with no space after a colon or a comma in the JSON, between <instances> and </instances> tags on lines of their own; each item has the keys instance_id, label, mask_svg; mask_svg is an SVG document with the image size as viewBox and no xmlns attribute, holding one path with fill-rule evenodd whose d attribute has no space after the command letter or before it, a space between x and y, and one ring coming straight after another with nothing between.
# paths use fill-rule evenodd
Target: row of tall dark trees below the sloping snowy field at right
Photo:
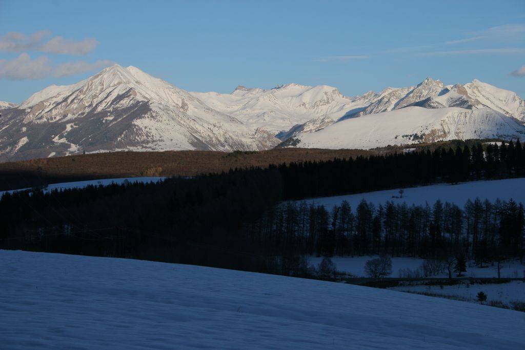
<instances>
[{"instance_id":1,"label":"row of tall dark trees below the sloping snowy field at right","mask_svg":"<svg viewBox=\"0 0 525 350\"><path fill-rule=\"evenodd\" d=\"M333 208L287 202L249 225L253 246L279 256L390 255L433 260L466 256L482 266L525 254L522 203L468 199L463 208L362 200Z\"/></svg>"}]
</instances>

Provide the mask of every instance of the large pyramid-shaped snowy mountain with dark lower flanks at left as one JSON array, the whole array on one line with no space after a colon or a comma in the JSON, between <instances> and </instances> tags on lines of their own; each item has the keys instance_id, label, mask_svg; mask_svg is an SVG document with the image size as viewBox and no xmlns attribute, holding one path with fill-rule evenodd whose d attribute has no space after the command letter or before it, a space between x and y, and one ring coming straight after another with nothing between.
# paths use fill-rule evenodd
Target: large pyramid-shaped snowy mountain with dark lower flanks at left
<instances>
[{"instance_id":1,"label":"large pyramid-shaped snowy mountain with dark lower flanks at left","mask_svg":"<svg viewBox=\"0 0 525 350\"><path fill-rule=\"evenodd\" d=\"M14 159L106 150L261 150L279 142L138 68L119 65L50 86L0 121L0 150Z\"/></svg>"}]
</instances>

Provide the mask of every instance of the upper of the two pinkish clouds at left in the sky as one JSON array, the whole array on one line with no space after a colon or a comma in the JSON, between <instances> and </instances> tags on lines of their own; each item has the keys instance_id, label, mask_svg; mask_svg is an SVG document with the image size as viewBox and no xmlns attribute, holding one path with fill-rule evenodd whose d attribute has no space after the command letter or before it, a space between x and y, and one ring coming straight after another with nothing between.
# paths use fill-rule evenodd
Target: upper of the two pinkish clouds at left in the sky
<instances>
[{"instance_id":1,"label":"upper of the two pinkish clouds at left in the sky","mask_svg":"<svg viewBox=\"0 0 525 350\"><path fill-rule=\"evenodd\" d=\"M9 32L4 36L0 36L0 51L40 51L50 54L86 55L99 44L99 42L93 38L76 42L75 40L55 36L47 40L50 35L51 32L47 29L30 35L19 32Z\"/></svg>"}]
</instances>

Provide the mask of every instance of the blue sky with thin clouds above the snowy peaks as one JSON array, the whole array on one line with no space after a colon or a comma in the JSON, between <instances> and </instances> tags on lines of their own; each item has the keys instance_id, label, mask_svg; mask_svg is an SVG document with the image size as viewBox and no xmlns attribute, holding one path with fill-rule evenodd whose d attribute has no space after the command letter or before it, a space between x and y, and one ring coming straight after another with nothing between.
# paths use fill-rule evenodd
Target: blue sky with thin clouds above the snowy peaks
<instances>
[{"instance_id":1,"label":"blue sky with thin clouds above the snowy peaks","mask_svg":"<svg viewBox=\"0 0 525 350\"><path fill-rule=\"evenodd\" d=\"M525 1L0 0L0 100L110 62L190 91L293 82L352 96L430 76L525 97Z\"/></svg>"}]
</instances>

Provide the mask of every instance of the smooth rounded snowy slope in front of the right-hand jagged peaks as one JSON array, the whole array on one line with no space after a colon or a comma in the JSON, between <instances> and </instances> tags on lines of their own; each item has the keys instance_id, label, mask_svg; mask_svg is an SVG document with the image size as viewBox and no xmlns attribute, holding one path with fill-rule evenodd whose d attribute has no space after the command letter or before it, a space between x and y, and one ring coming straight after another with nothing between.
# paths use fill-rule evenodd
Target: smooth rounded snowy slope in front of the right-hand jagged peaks
<instances>
[{"instance_id":1,"label":"smooth rounded snowy slope in front of the right-hand jagged peaks","mask_svg":"<svg viewBox=\"0 0 525 350\"><path fill-rule=\"evenodd\" d=\"M517 119L490 108L405 107L341 120L317 132L301 133L293 145L306 148L364 148L453 139L525 137Z\"/></svg>"}]
</instances>

